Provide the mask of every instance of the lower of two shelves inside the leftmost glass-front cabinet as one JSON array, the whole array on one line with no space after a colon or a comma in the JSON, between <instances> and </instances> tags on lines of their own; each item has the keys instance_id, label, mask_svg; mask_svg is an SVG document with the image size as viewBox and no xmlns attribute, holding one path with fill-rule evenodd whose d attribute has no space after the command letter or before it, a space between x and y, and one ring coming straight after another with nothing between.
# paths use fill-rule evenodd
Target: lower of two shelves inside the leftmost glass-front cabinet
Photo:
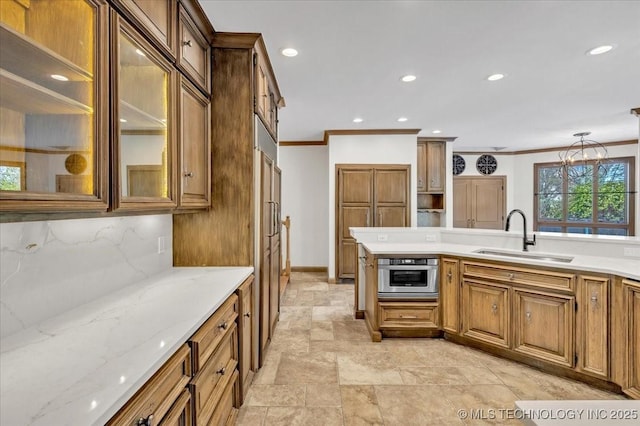
<instances>
[{"instance_id":1,"label":"lower of two shelves inside the leftmost glass-front cabinet","mask_svg":"<svg viewBox=\"0 0 640 426\"><path fill-rule=\"evenodd\" d=\"M4 55L4 51L3 51ZM25 114L93 114L93 108L0 69L0 106Z\"/></svg>"}]
</instances>

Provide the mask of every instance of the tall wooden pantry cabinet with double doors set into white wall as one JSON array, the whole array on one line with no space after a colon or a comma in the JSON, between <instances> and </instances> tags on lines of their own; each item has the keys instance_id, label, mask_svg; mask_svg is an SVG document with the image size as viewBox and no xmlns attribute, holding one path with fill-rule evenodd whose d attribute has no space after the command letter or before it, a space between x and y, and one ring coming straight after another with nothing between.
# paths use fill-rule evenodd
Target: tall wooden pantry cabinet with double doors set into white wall
<instances>
[{"instance_id":1,"label":"tall wooden pantry cabinet with double doors set into white wall","mask_svg":"<svg viewBox=\"0 0 640 426\"><path fill-rule=\"evenodd\" d=\"M357 247L349 228L409 225L409 166L342 164L336 173L336 277L354 278Z\"/></svg>"}]
</instances>

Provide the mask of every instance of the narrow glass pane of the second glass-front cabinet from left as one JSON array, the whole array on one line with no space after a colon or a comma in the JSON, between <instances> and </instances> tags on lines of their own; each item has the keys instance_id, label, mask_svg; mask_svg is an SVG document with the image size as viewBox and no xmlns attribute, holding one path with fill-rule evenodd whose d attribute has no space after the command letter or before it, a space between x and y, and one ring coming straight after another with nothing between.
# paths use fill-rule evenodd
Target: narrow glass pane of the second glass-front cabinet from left
<instances>
[{"instance_id":1,"label":"narrow glass pane of the second glass-front cabinet from left","mask_svg":"<svg viewBox=\"0 0 640 426\"><path fill-rule=\"evenodd\" d=\"M118 47L120 196L166 200L171 71L129 32L120 32Z\"/></svg>"}]
</instances>

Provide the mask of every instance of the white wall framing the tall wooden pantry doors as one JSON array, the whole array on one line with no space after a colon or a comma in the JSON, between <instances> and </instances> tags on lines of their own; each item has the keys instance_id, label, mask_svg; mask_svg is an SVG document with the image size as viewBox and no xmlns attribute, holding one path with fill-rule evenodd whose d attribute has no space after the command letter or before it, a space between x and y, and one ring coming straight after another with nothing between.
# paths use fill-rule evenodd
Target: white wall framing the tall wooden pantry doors
<instances>
[{"instance_id":1,"label":"white wall framing the tall wooden pantry doors","mask_svg":"<svg viewBox=\"0 0 640 426\"><path fill-rule=\"evenodd\" d=\"M332 135L329 137L329 278L335 278L335 168L336 164L409 164L411 166L411 222L417 224L416 135Z\"/></svg>"}]
</instances>

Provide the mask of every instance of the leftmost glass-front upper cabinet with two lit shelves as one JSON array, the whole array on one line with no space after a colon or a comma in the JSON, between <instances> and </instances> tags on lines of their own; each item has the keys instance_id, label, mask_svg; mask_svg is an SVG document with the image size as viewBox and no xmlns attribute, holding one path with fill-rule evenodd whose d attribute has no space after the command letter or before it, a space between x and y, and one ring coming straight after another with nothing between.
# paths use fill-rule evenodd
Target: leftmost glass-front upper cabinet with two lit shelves
<instances>
[{"instance_id":1,"label":"leftmost glass-front upper cabinet with two lit shelves","mask_svg":"<svg viewBox=\"0 0 640 426\"><path fill-rule=\"evenodd\" d=\"M1 211L107 209L107 34L105 1L0 1Z\"/></svg>"}]
</instances>

